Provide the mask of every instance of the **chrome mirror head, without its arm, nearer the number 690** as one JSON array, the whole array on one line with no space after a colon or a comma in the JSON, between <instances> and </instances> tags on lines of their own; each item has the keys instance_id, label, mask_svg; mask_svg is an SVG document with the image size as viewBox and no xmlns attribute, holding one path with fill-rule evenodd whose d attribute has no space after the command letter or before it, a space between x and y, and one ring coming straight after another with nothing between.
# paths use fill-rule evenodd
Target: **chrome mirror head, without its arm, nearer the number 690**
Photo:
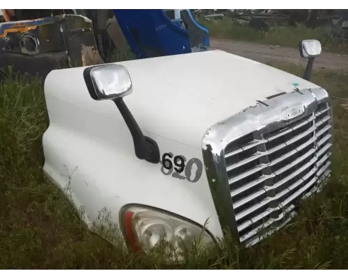
<instances>
[{"instance_id":1,"label":"chrome mirror head, without its arm, nearer the number 690","mask_svg":"<svg viewBox=\"0 0 348 278\"><path fill-rule=\"evenodd\" d=\"M132 92L132 80L122 65L97 65L84 70L84 79L95 100L118 99Z\"/></svg>"}]
</instances>

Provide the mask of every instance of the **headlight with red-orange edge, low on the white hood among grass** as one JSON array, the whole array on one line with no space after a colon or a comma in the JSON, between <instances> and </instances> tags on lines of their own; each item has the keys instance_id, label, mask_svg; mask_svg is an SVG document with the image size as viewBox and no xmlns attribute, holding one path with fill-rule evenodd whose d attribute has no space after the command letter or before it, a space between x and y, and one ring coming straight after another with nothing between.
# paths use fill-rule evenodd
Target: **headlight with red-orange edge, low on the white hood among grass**
<instances>
[{"instance_id":1,"label":"headlight with red-orange edge, low on the white hood among grass","mask_svg":"<svg viewBox=\"0 0 348 278\"><path fill-rule=\"evenodd\" d=\"M148 252L161 240L177 252L190 250L195 241L203 247L214 243L212 236L198 224L155 208L128 206L121 217L125 238L134 251Z\"/></svg>"}]
</instances>

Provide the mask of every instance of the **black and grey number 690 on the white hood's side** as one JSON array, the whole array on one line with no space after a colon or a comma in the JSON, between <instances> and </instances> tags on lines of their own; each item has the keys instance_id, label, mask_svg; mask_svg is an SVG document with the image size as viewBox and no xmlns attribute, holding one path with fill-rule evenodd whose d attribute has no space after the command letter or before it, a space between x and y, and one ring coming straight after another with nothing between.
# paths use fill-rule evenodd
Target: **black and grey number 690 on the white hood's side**
<instances>
[{"instance_id":1,"label":"black and grey number 690 on the white hood's side","mask_svg":"<svg viewBox=\"0 0 348 278\"><path fill-rule=\"evenodd\" d=\"M184 156L174 156L171 152L166 152L161 160L161 172L166 176L172 175L173 178L187 179L192 183L199 181L203 172L203 163L198 158L191 158L189 161ZM196 166L196 172L193 172ZM192 177L193 176L193 177Z\"/></svg>"}]
</instances>

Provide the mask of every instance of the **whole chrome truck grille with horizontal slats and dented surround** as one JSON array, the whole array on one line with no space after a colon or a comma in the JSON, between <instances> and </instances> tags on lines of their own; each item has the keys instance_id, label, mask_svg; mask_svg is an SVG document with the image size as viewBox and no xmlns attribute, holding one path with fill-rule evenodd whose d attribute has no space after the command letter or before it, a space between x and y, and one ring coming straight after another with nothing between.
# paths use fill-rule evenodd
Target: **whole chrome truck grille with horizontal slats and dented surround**
<instances>
[{"instance_id":1,"label":"whole chrome truck grille with horizontal slats and dented surround","mask_svg":"<svg viewBox=\"0 0 348 278\"><path fill-rule=\"evenodd\" d=\"M210 127L203 158L221 227L253 245L296 215L330 175L332 111L322 88L273 97Z\"/></svg>"}]
</instances>

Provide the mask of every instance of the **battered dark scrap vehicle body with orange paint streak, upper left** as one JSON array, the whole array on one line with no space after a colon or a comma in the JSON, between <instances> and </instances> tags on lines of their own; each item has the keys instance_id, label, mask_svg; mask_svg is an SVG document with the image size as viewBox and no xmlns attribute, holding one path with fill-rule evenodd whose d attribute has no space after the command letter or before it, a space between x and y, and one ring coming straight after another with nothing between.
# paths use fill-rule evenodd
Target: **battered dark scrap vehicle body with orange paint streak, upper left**
<instances>
[{"instance_id":1,"label":"battered dark scrap vehicle body with orange paint streak, upper left","mask_svg":"<svg viewBox=\"0 0 348 278\"><path fill-rule=\"evenodd\" d=\"M57 15L0 24L1 70L13 65L14 72L45 77L57 67L101 63L92 22L87 17Z\"/></svg>"}]
</instances>

